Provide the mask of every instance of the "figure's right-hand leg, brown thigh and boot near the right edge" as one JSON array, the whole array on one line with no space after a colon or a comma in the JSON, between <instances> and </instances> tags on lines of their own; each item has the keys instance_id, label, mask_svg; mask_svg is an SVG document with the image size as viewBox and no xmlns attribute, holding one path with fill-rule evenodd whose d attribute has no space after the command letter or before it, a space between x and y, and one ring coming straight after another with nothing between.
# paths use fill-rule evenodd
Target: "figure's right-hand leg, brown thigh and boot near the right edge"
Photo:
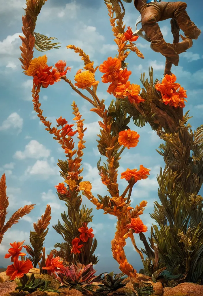
<instances>
[{"instance_id":1,"label":"figure's right-hand leg, brown thigh and boot near the right edge","mask_svg":"<svg viewBox=\"0 0 203 296\"><path fill-rule=\"evenodd\" d=\"M166 19L167 16L175 17L181 30L183 30L186 37L197 39L201 30L192 22L186 12L187 4L185 2L168 2L163 11L162 18ZM167 17L168 18L168 17Z\"/></svg>"}]
</instances>

